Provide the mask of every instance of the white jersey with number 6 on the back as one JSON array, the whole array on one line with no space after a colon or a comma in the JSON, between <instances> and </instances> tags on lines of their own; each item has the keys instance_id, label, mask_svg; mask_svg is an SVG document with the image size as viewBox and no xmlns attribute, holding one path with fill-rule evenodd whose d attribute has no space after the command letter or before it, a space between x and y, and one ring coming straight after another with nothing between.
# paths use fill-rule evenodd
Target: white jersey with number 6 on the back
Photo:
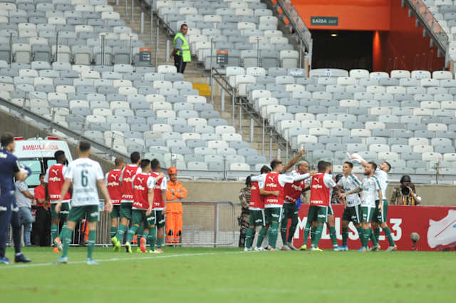
<instances>
[{"instance_id":1,"label":"white jersey with number 6 on the back","mask_svg":"<svg viewBox=\"0 0 456 303\"><path fill-rule=\"evenodd\" d=\"M97 181L103 180L100 163L78 158L68 165L65 178L73 183L71 206L99 205Z\"/></svg>"}]
</instances>

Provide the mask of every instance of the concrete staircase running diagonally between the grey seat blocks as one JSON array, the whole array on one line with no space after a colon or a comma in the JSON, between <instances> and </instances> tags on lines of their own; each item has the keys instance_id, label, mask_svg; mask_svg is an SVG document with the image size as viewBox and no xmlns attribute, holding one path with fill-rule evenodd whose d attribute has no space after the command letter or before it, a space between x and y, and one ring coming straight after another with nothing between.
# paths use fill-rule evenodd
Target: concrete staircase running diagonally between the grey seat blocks
<instances>
[{"instance_id":1,"label":"concrete staircase running diagonally between the grey seat blocks","mask_svg":"<svg viewBox=\"0 0 456 303\"><path fill-rule=\"evenodd\" d=\"M153 32L152 32L152 41L150 41L150 15L145 13L145 22L144 22L144 34L140 34L140 12L141 7L138 4L138 1L135 2L135 8L133 10L133 22L131 22L131 1L128 1L128 14L125 14L125 1L120 0L119 5L115 5L115 1L110 0L109 4L113 6L114 11L117 11L120 14L120 18L125 20L126 26L129 26L133 32L139 35L139 38L144 41L145 46L152 47L152 63L155 63L155 41L157 40L157 18L154 16ZM174 64L174 61L170 58L165 58L166 56L166 45L167 40L170 41L170 48L172 48L172 37L167 36L165 30L160 29L159 31L159 43L158 43L158 60L157 64ZM195 63L187 64L184 74L185 81L190 81L192 83L209 83L210 73L209 71L204 71L197 69ZM225 93L224 98L224 111L221 111L221 96L220 96L220 86L214 84L214 109L220 111L221 118L227 119L229 125L232 123L232 101L230 96ZM207 97L208 102L210 102L210 97ZM239 132L239 106L234 106L234 126ZM261 125L254 123L254 135L253 139L250 140L250 115L242 112L242 138L244 141L250 143L250 148L255 148L258 150L259 155L262 154L262 128ZM272 144L272 154L271 158L275 158L277 154L278 145L276 143ZM266 160L269 161L269 135L265 135L264 138L264 156ZM285 151L281 151L283 157Z\"/></svg>"}]
</instances>

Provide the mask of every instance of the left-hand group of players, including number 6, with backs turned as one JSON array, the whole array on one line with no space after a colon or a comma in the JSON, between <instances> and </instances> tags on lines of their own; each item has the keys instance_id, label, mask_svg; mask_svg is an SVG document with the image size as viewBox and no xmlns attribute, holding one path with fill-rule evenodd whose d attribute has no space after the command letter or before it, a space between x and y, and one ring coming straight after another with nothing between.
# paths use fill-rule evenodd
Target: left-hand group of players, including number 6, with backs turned
<instances>
[{"instance_id":1,"label":"left-hand group of players, including number 6, with backs turned","mask_svg":"<svg viewBox=\"0 0 456 303\"><path fill-rule=\"evenodd\" d=\"M105 196L104 208L110 213L110 236L114 251L120 251L125 231L131 222L126 235L126 251L133 252L131 243L137 235L137 252L146 252L149 240L149 252L162 253L167 180L165 174L160 173L160 161L141 160L140 153L134 152L130 155L130 165L125 165L122 158L116 158L115 168L103 176L100 164L88 158L89 143L81 142L78 153L79 158L66 167L65 154L59 150L55 153L56 164L46 171L46 190L51 201L53 220L53 250L63 251L56 263L68 262L72 232L76 223L86 217L89 227L86 263L97 264L92 259L100 211L97 188ZM58 235L61 221L63 225Z\"/></svg>"}]
</instances>

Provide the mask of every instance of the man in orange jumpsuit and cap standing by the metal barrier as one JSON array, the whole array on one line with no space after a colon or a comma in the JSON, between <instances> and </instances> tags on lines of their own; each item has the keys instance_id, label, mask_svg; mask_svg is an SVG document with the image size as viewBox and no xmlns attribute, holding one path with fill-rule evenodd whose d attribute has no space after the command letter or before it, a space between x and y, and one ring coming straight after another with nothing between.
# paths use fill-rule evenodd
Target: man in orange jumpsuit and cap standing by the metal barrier
<instances>
[{"instance_id":1,"label":"man in orange jumpsuit and cap standing by the metal barrier","mask_svg":"<svg viewBox=\"0 0 456 303\"><path fill-rule=\"evenodd\" d=\"M168 169L170 180L166 191L166 242L179 243L182 235L182 202L187 197L187 188L177 182L177 168Z\"/></svg>"}]
</instances>

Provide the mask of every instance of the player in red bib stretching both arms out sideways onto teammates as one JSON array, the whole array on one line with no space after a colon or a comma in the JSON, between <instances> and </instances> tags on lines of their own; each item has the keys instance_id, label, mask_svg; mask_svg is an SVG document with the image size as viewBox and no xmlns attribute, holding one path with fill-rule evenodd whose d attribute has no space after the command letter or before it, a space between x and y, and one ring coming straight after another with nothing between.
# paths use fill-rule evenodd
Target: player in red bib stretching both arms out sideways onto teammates
<instances>
[{"instance_id":1,"label":"player in red bib stretching both arms out sideways onto teammates","mask_svg":"<svg viewBox=\"0 0 456 303\"><path fill-rule=\"evenodd\" d=\"M252 181L264 183L264 190L274 192L273 195L266 195L264 198L264 212L266 224L270 225L268 229L268 250L276 250L276 242L279 230L279 223L282 217L282 207L284 205L284 186L286 183L294 183L295 181L304 180L314 175L315 172L306 173L292 177L290 175L280 174L284 165L280 159L274 159L271 162L271 173L252 177Z\"/></svg>"}]
</instances>

